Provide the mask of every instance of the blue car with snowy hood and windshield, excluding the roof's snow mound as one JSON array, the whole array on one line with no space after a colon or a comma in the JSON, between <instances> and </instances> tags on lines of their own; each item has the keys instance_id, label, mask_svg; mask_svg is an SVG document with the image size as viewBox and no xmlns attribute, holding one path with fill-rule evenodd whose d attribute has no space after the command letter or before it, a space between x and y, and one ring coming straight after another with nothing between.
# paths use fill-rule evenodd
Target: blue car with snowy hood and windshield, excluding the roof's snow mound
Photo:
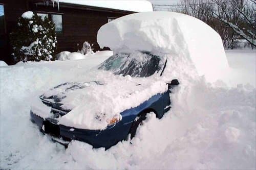
<instances>
[{"instance_id":1,"label":"blue car with snowy hood and windshield, excluding the roof's snow mound","mask_svg":"<svg viewBox=\"0 0 256 170\"><path fill-rule=\"evenodd\" d=\"M129 136L133 138L147 113L154 112L156 117L161 118L170 109L169 94L174 86L179 84L178 80L164 82L165 87L159 89L160 92L152 90L155 86L150 86L155 84L153 81L161 80L166 63L166 57L145 51L114 54L94 70L96 74L102 76L103 80L66 82L53 87L39 97L38 104L32 105L31 120L42 132L52 136L54 141L66 146L71 140L79 140L93 145L94 148L110 148ZM104 77L109 77L110 81L106 81L108 79ZM119 86L123 87L119 89ZM104 95L111 89L116 92L113 93L114 99L110 98L109 94ZM138 99L144 93L146 93L145 97ZM76 98L76 96L79 97ZM96 96L95 101L93 96ZM70 107L70 104L74 104L77 100L84 103L78 102ZM94 114L93 112L96 111L93 107L98 108L103 105L100 101L106 102L107 109L99 109L97 114ZM81 105L85 105L84 110L89 110L88 112L93 116L90 113L87 116L79 114L83 112L83 109L77 109ZM111 107L118 109L111 109ZM109 112L120 111L120 113L108 116L106 113L108 110ZM67 121L69 119L73 121L70 123ZM93 122L99 122L100 126L83 126Z\"/></svg>"}]
</instances>

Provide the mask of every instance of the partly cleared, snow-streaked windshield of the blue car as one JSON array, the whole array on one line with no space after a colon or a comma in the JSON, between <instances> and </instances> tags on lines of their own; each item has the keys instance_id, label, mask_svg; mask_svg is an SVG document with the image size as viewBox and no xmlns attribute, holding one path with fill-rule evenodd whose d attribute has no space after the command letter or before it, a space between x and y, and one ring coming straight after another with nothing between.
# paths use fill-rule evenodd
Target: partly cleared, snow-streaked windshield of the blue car
<instances>
[{"instance_id":1,"label":"partly cleared, snow-streaked windshield of the blue car","mask_svg":"<svg viewBox=\"0 0 256 170\"><path fill-rule=\"evenodd\" d=\"M162 70L164 61L150 52L118 53L105 60L99 69L111 70L115 75L148 77Z\"/></svg>"}]
</instances>

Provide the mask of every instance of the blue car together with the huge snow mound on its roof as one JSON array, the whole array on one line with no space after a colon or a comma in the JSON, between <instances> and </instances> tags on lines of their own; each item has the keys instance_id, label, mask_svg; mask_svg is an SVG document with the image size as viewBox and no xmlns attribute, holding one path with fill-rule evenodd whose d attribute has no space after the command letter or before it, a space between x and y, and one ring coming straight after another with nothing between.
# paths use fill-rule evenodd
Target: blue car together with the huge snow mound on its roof
<instances>
[{"instance_id":1,"label":"blue car together with the huge snow mound on its roof","mask_svg":"<svg viewBox=\"0 0 256 170\"><path fill-rule=\"evenodd\" d=\"M163 117L179 81L192 81L190 76L199 74L214 80L227 68L218 33L180 13L117 18L99 29L97 42L110 47L113 55L33 101L32 122L54 140L110 148L133 138L147 113Z\"/></svg>"}]
</instances>

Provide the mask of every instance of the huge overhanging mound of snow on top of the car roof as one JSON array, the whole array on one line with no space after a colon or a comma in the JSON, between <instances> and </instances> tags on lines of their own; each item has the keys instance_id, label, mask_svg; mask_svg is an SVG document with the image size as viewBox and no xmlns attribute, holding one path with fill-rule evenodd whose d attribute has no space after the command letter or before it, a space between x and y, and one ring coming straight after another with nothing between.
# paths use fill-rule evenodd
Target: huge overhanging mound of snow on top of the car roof
<instances>
[{"instance_id":1,"label":"huge overhanging mound of snow on top of the car roof","mask_svg":"<svg viewBox=\"0 0 256 170\"><path fill-rule=\"evenodd\" d=\"M198 74L211 82L228 69L219 34L203 21L180 13L142 12L117 18L99 29L97 41L114 53L139 50L175 56L183 52Z\"/></svg>"}]
</instances>

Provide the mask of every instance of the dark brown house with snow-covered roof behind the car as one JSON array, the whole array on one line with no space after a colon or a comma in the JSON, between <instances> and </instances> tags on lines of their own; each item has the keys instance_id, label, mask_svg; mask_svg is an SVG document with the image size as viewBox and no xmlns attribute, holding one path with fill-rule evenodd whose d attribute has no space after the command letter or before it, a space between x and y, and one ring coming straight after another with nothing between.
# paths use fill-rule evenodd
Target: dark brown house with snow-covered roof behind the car
<instances>
[{"instance_id":1,"label":"dark brown house with snow-covered roof behind the car","mask_svg":"<svg viewBox=\"0 0 256 170\"><path fill-rule=\"evenodd\" d=\"M118 3L119 6L122 3L121 9ZM131 8L134 3L137 9ZM9 34L16 27L18 17L26 11L48 17L55 23L57 52L76 52L84 41L94 44L94 51L100 50L96 40L99 28L115 18L140 12L139 9L152 11L152 4L147 1L0 0L0 60L15 63Z\"/></svg>"}]
</instances>

